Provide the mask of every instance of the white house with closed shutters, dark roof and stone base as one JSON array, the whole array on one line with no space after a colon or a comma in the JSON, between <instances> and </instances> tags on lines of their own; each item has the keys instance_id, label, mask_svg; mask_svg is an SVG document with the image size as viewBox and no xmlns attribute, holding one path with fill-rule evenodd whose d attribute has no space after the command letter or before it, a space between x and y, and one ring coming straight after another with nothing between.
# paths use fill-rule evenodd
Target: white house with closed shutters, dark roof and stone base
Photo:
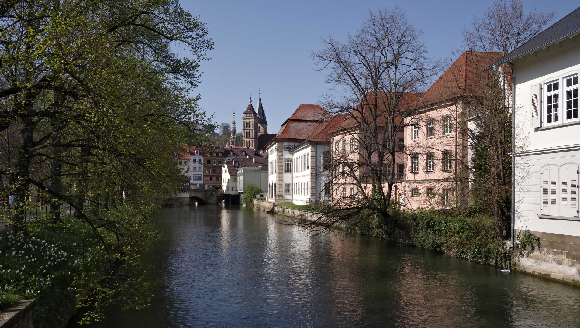
<instances>
[{"instance_id":1,"label":"white house with closed shutters, dark roof and stone base","mask_svg":"<svg viewBox=\"0 0 580 328\"><path fill-rule=\"evenodd\" d=\"M514 235L541 248L518 267L580 281L580 8L496 61L513 65L516 152Z\"/></svg>"}]
</instances>

